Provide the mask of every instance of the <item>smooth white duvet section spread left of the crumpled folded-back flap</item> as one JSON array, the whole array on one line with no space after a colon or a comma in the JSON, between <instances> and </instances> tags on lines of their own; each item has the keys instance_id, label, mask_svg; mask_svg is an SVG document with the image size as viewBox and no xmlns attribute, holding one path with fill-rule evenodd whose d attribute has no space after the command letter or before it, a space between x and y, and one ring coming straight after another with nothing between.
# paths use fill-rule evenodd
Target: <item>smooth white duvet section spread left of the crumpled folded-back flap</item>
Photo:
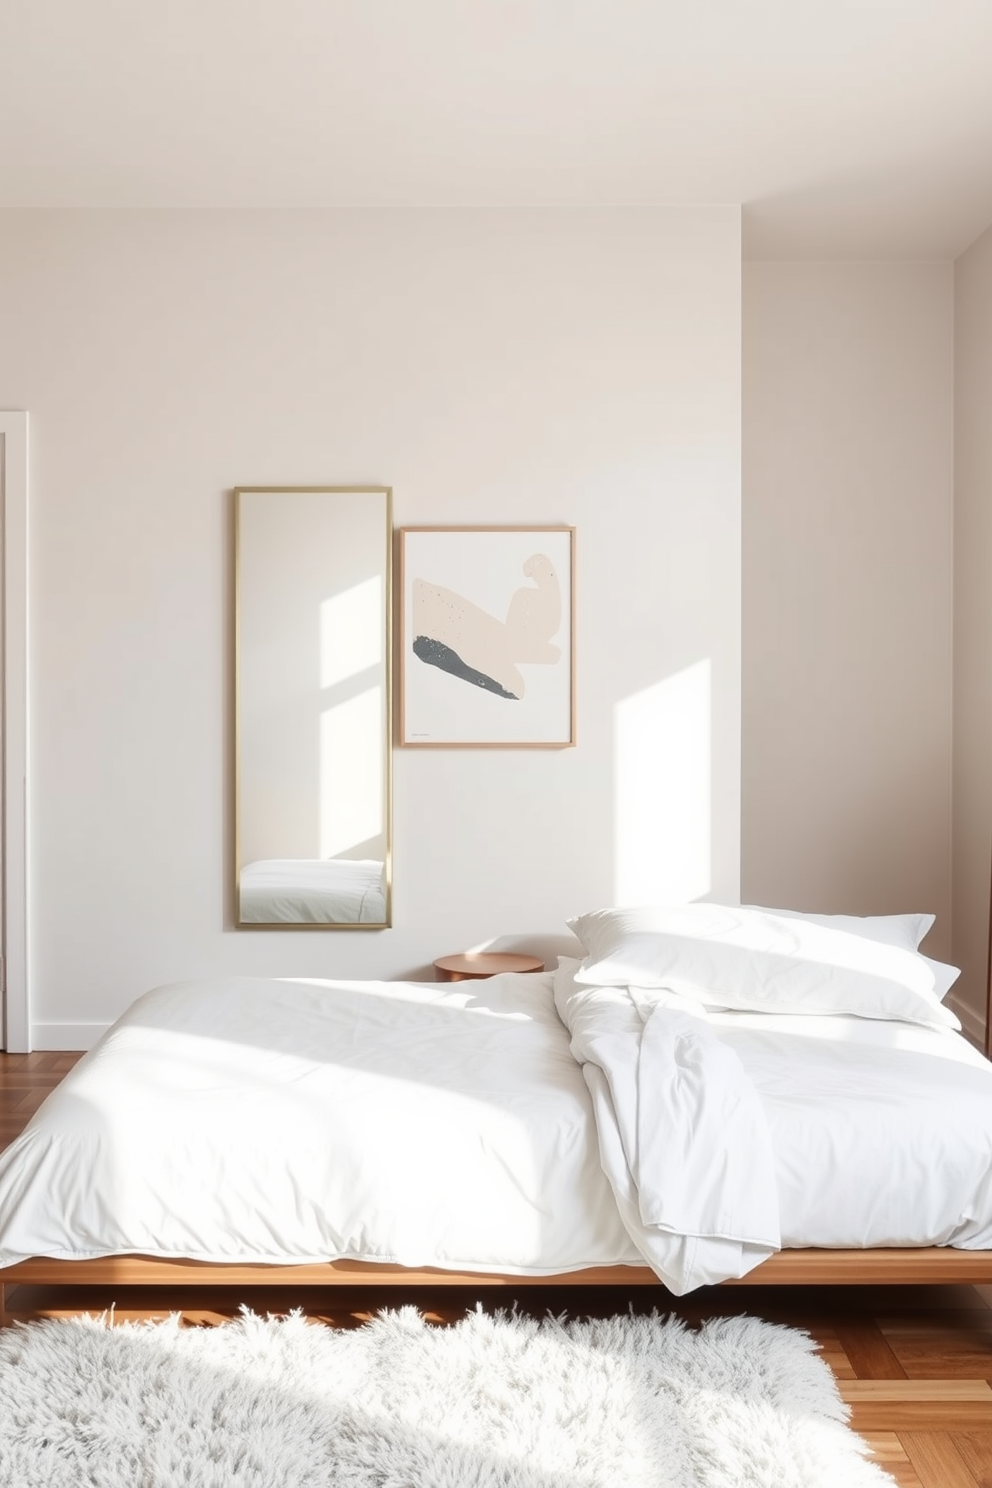
<instances>
[{"instance_id":1,"label":"smooth white duvet section spread left of the crumpled folded-back flap","mask_svg":"<svg viewBox=\"0 0 992 1488\"><path fill-rule=\"evenodd\" d=\"M138 998L0 1155L0 1263L123 1251L640 1263L534 975L231 978Z\"/></svg>"}]
</instances>

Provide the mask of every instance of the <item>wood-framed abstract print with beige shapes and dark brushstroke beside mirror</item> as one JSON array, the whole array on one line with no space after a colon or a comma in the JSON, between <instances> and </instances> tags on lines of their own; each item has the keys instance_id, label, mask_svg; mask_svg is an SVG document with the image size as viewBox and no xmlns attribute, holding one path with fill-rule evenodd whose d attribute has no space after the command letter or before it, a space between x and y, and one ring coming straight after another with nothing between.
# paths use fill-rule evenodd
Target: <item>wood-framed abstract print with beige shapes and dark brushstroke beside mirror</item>
<instances>
[{"instance_id":1,"label":"wood-framed abstract print with beige shapes and dark brushstroke beside mirror","mask_svg":"<svg viewBox=\"0 0 992 1488\"><path fill-rule=\"evenodd\" d=\"M574 744L574 527L403 527L399 567L400 744Z\"/></svg>"}]
</instances>

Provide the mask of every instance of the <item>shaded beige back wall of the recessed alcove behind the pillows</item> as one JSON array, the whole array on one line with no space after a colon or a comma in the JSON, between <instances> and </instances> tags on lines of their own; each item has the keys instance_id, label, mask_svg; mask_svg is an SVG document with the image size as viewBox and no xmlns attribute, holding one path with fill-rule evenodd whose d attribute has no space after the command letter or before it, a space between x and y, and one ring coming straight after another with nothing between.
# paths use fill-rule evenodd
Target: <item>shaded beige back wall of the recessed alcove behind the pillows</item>
<instances>
[{"instance_id":1,"label":"shaded beige back wall of the recessed alcove behind the pillows","mask_svg":"<svg viewBox=\"0 0 992 1488\"><path fill-rule=\"evenodd\" d=\"M988 324L989 272L985 296ZM745 265L742 896L933 911L938 957L952 942L952 333L950 263Z\"/></svg>"}]
</instances>

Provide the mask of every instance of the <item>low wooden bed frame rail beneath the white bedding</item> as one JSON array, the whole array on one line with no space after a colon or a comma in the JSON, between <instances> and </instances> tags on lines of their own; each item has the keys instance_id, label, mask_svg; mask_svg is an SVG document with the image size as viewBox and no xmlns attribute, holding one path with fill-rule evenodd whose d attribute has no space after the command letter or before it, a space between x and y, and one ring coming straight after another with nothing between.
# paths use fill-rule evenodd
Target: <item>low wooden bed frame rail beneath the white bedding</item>
<instances>
[{"instance_id":1,"label":"low wooden bed frame rail beneath the white bedding","mask_svg":"<svg viewBox=\"0 0 992 1488\"><path fill-rule=\"evenodd\" d=\"M992 1283L992 1250L950 1245L909 1250L779 1250L745 1277L721 1286L919 1286ZM363 1260L277 1266L104 1256L95 1260L21 1260L0 1272L0 1327L6 1293L16 1286L58 1287L662 1287L650 1266L590 1266L550 1277L388 1266Z\"/></svg>"}]
</instances>

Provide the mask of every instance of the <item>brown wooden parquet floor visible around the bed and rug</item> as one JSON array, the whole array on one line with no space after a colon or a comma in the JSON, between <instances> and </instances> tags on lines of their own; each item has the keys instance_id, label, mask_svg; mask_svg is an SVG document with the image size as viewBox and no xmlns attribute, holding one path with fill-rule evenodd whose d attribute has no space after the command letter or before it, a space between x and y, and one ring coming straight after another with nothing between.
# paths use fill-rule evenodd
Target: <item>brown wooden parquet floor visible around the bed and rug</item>
<instances>
[{"instance_id":1,"label":"brown wooden parquet floor visible around the bed and rug","mask_svg":"<svg viewBox=\"0 0 992 1488\"><path fill-rule=\"evenodd\" d=\"M73 1067L76 1054L0 1054L0 1146L27 1125L51 1089ZM473 1298L473 1302L476 1299ZM485 1306L509 1306L507 1289L479 1293ZM406 1295L396 1287L361 1295L187 1289L116 1295L97 1289L52 1292L10 1289L13 1317L58 1317L106 1311L117 1318L181 1312L190 1324L216 1323L247 1303L259 1312L300 1306L314 1320L354 1327L381 1306L415 1302L439 1323L452 1321L466 1303L449 1295ZM992 1488L992 1287L711 1287L672 1299L650 1287L622 1298L616 1290L525 1289L521 1308L543 1314L675 1311L689 1324L706 1317L750 1312L802 1327L819 1344L852 1411L851 1424L900 1488ZM843 1488L843 1484L837 1484Z\"/></svg>"}]
</instances>

